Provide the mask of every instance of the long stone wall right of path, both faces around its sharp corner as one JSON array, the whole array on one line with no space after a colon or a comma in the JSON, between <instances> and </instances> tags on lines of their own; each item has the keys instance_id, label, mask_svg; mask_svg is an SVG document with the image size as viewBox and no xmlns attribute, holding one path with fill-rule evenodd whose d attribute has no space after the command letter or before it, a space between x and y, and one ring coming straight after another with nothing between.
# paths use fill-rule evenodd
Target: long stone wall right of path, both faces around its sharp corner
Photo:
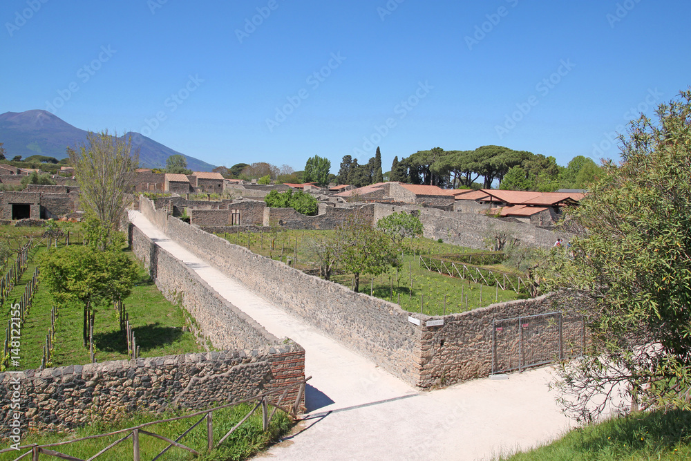
<instances>
[{"instance_id":1,"label":"long stone wall right of path, both faces around its sharp corner","mask_svg":"<svg viewBox=\"0 0 691 461\"><path fill-rule=\"evenodd\" d=\"M580 304L570 297L499 303L446 317L410 314L399 305L232 245L156 210L146 198L140 207L159 229L221 272L414 386L431 388L488 375L493 319L560 311L565 312L565 342L583 335L582 323L573 313ZM426 326L440 319L444 326Z\"/></svg>"}]
</instances>

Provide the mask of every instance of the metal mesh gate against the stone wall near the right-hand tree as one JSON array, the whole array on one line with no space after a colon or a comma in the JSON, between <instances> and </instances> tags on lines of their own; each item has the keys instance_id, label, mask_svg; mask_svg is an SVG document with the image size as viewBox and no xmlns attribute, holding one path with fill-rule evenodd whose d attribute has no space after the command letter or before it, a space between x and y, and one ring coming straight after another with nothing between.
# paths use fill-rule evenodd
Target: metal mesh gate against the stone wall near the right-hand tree
<instances>
[{"instance_id":1,"label":"metal mesh gate against the stone wall near the right-hand tree","mask_svg":"<svg viewBox=\"0 0 691 461\"><path fill-rule=\"evenodd\" d=\"M492 374L563 358L561 312L492 321Z\"/></svg>"}]
</instances>

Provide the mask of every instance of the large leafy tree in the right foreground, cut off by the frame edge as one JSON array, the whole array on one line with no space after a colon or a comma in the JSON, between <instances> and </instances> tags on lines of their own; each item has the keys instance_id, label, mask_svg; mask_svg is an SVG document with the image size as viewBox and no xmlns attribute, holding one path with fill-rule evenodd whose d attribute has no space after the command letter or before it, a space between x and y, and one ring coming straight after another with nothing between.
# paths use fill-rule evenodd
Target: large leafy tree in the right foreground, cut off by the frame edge
<instances>
[{"instance_id":1,"label":"large leafy tree in the right foreground, cut off by the frame edge","mask_svg":"<svg viewBox=\"0 0 691 461\"><path fill-rule=\"evenodd\" d=\"M623 161L605 162L574 211L587 229L571 242L575 259L551 261L561 275L551 283L590 301L591 346L556 384L585 420L622 388L631 408L691 409L691 91L619 139Z\"/></svg>"}]
</instances>

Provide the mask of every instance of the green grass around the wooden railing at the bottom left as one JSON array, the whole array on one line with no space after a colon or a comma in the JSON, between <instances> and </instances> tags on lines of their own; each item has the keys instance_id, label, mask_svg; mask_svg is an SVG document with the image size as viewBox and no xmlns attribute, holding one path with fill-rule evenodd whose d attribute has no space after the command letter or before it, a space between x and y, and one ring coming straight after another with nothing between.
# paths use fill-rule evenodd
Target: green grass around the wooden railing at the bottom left
<instances>
[{"instance_id":1,"label":"green grass around the wooden railing at the bottom left","mask_svg":"<svg viewBox=\"0 0 691 461\"><path fill-rule=\"evenodd\" d=\"M222 410L214 411L214 444L218 443L220 438L227 433L236 423L238 423L254 405L240 404L230 408L223 408ZM269 412L272 407L269 406ZM28 433L26 437L21 440L21 445L27 444L49 444L60 442L64 440L74 440L77 438L88 437L90 435L98 435L102 433L110 433L120 429L126 429L133 426L138 426L146 422L153 422L164 420L171 417L178 417L181 415L189 415L193 411L166 411L164 413L130 413L124 416L121 420L116 422L104 422L103 420L94 420L90 424L77 429L75 433L48 433L41 431L40 433ZM184 420L178 420L167 423L153 424L144 428L144 430L163 435L171 440L176 440L180 434L189 429L189 427L200 420L201 416L191 417ZM272 441L287 433L292 427L290 417L283 411L277 411L274 419L269 425L269 431L266 433L262 429L261 408L259 408L252 417L243 423L240 428L235 431L218 449L211 453L207 453L207 424L202 422L188 435L186 435L180 443L189 446L201 453L199 458L196 458L192 453L186 450L171 448L165 453L161 460L244 460L254 455L261 449L264 449ZM73 444L51 447L51 449L65 453L76 458L86 460L95 455L98 451L108 446L115 440L122 438L124 435L111 435L106 438L95 440L86 440L84 442L75 442ZM149 435L140 434L140 454L142 460L151 460L168 444L158 438L153 438ZM21 451L21 453L26 450ZM8 453L0 454L0 461L14 460L19 455L17 451L10 451ZM45 455L41 455L41 459ZM27 458L28 459L28 458ZM100 455L98 460L104 461L120 461L132 459L132 440L131 438L118 444L113 449L106 451Z\"/></svg>"}]
</instances>

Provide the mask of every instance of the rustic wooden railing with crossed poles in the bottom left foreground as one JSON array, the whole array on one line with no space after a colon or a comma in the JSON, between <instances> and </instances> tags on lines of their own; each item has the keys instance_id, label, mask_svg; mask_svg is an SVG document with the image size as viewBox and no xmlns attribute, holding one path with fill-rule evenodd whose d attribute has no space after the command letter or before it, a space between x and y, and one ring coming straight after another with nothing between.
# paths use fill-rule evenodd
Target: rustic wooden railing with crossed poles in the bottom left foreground
<instances>
[{"instance_id":1,"label":"rustic wooden railing with crossed poles in the bottom left foreground","mask_svg":"<svg viewBox=\"0 0 691 461\"><path fill-rule=\"evenodd\" d=\"M140 424L139 426L129 427L127 429L120 429L120 431L109 432L107 434L90 435L89 437L83 437L83 438L79 438L79 439L75 439L75 440L66 440L65 442L56 442L53 444L45 444L45 445L31 444L31 445L19 446L19 450L28 449L28 451L26 451L26 453L23 453L22 455L19 455L19 457L15 458L14 461L19 461L23 458L27 458L28 455L31 455L31 458L30 458L31 461L38 461L39 455L41 455L41 454L42 455L48 455L48 456L55 457L55 458L61 458L63 460L70 460L70 461L91 461L91 460L95 460L95 458L102 455L103 453L106 453L106 451L112 449L117 444L120 444L120 442L124 442L125 440L127 440L129 438L132 438L132 460L133 461L140 461L140 435L149 435L149 437L158 438L158 439L163 440L164 442L168 443L168 446L166 448L164 448L160 453L158 453L158 455L155 455L155 457L153 457L152 461L158 460L158 458L160 458L169 449L173 448L173 446L176 446L179 449L187 450L190 453L193 453L194 455L199 455L200 453L198 453L198 451L191 449L189 446L185 446L184 444L180 443L180 440L182 440L182 438L184 438L185 435L189 434L192 431L192 429L194 429L196 426L198 426L199 424L201 424L204 421L207 422L207 451L211 451L213 449L218 448L220 446L220 444L225 442L225 440L227 438L229 438L230 435L232 433L234 433L238 429L238 427L240 427L240 425L242 425L245 421L247 421L249 419L249 417L252 416L254 414L254 412L259 407L261 407L261 410L262 410L263 429L264 429L264 431L267 431L269 429L269 424L271 423L271 420L273 419L274 414L276 414L276 410L278 410L278 408L283 409L284 411L286 411L287 413L290 413L293 416L297 415L299 408L300 408L300 402L301 402L303 396L305 395L305 383L307 383L307 381L309 381L310 379L312 379L311 376L306 377L305 379L303 379L299 382L290 384L289 386L285 386L285 388L280 388L280 389L276 389L274 391L265 392L263 394L257 395L256 397L251 397L249 399L243 399L243 400L240 400L238 402L234 402L232 404L216 406L215 408L209 408L208 410L198 411L196 413L192 413L191 415L173 417L173 418L169 418L167 420L147 422L145 424ZM281 402L283 401L285 396L288 394L288 391L290 391L290 389L292 389L296 386L299 386L299 388L298 388L298 394L295 398L295 402L292 403L290 408L281 407ZM270 395L276 395L278 393L281 393L281 397L278 398L278 401L276 401L275 404L270 403L268 397ZM229 408L231 406L237 406L239 404L246 404L249 402L257 402L257 403L254 406L254 408L252 408L252 410L249 411L249 413L247 413L247 415L245 415L245 417L243 417L243 419L240 420L240 422L238 422L238 424L233 426L232 429L230 429L230 431L228 431L216 444L214 444L214 425L213 425L213 416L212 416L214 411L220 410L222 408ZM270 414L269 414L269 405L274 407L274 409L271 411ZM184 431L182 434L180 434L178 436L178 438L176 438L176 440L171 440L169 438L164 437L163 435L149 432L149 431L145 431L143 429L144 427L147 427L147 426L153 426L153 424L160 424L160 423L164 423L164 422L184 420L184 419L196 417L199 415L202 415L201 419L198 420L196 423L192 424L192 426L190 426L189 429L187 429L187 431ZM115 440L115 442L106 446L104 449L102 449L98 453L95 453L95 455L91 456L87 460L82 460L82 458L75 458L74 456L66 455L64 453L60 453L59 451L55 451L52 449L55 446L73 444L75 442L82 442L84 440L93 440L93 439L97 439L97 438L104 438L104 437L109 437L111 435L123 435L123 436L121 438L119 438L118 440ZM0 453L5 453L6 451L15 451L15 449L14 448L3 449L3 450L0 450Z\"/></svg>"}]
</instances>

